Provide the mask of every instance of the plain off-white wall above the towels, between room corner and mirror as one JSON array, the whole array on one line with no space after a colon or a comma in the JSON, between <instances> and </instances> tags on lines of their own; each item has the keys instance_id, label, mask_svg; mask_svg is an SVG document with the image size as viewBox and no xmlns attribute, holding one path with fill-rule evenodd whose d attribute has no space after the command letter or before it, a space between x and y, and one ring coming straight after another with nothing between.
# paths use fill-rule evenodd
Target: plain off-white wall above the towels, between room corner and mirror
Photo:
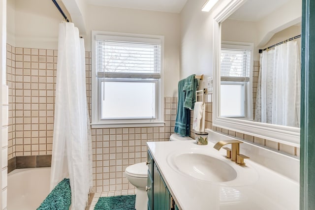
<instances>
[{"instance_id":1,"label":"plain off-white wall above the towels, between room corner and mirror","mask_svg":"<svg viewBox=\"0 0 315 210\"><path fill-rule=\"evenodd\" d=\"M180 79L190 74L213 75L213 18L212 13L201 11L204 2L188 0L181 12Z\"/></svg>"}]
</instances>

